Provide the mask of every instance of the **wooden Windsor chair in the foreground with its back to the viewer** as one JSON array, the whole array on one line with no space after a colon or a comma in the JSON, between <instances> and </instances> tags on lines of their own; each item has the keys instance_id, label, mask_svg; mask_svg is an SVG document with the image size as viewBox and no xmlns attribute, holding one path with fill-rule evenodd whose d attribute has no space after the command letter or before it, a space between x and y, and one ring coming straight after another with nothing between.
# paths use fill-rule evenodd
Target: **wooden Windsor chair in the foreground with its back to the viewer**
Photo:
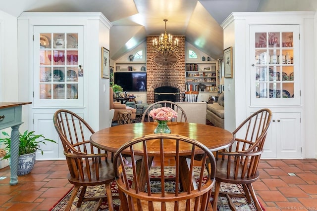
<instances>
[{"instance_id":1,"label":"wooden Windsor chair in the foreground with its back to the viewer","mask_svg":"<svg viewBox=\"0 0 317 211\"><path fill-rule=\"evenodd\" d=\"M154 150L152 143L159 143L159 149ZM186 148L186 150L181 150ZM194 168L195 154L203 154L201 163ZM143 157L143 167L132 162L132 167L126 166L124 156ZM153 191L149 160L159 156L160 184L165 184L164 156L175 156L175 179L172 187L160 185L158 192ZM186 167L180 162L188 156ZM210 161L210 162L207 162ZM183 163L184 165L184 163ZM170 168L170 164L168 168ZM206 211L212 210L210 204L211 188L214 184L215 159L212 152L202 143L176 134L150 134L135 138L122 145L114 154L116 184L121 200L120 210L151 210L151 211ZM181 168L189 168L189 173L182 175ZM132 171L128 174L128 171ZM144 171L139 177L140 171ZM132 184L131 184L132 182ZM186 183L188 189L181 191L181 183ZM157 185L156 185L157 186Z\"/></svg>"}]
</instances>

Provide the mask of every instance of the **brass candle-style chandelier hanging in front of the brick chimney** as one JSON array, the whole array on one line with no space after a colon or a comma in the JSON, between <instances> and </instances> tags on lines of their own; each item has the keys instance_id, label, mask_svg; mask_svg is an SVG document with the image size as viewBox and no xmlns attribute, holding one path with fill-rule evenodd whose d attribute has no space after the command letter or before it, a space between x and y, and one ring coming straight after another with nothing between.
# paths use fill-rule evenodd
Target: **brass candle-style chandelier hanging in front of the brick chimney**
<instances>
[{"instance_id":1,"label":"brass candle-style chandelier hanging in front of the brick chimney","mask_svg":"<svg viewBox=\"0 0 317 211\"><path fill-rule=\"evenodd\" d=\"M178 39L176 38L173 41L173 36L170 34L167 35L166 33L166 21L167 19L163 20L165 22L165 32L159 36L159 41L157 39L153 40L153 52L158 53L174 53L178 52Z\"/></svg>"}]
</instances>

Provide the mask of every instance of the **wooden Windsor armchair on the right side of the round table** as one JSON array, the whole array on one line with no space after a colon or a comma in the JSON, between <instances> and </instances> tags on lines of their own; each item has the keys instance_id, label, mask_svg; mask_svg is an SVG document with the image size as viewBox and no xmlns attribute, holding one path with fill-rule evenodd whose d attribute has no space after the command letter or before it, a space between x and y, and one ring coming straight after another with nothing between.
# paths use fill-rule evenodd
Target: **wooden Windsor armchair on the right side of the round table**
<instances>
[{"instance_id":1,"label":"wooden Windsor armchair on the right side of the round table","mask_svg":"<svg viewBox=\"0 0 317 211\"><path fill-rule=\"evenodd\" d=\"M260 109L253 113L232 132L235 135L235 141L228 150L223 149L217 152L216 184L212 204L214 210L217 207L219 195L231 201L230 194L220 193L220 183L226 182L241 184L248 203L251 204L252 197L257 210L262 211L252 183L260 176L258 165L271 117L272 113L269 109ZM232 206L233 203L229 205L231 210L236 210Z\"/></svg>"}]
</instances>

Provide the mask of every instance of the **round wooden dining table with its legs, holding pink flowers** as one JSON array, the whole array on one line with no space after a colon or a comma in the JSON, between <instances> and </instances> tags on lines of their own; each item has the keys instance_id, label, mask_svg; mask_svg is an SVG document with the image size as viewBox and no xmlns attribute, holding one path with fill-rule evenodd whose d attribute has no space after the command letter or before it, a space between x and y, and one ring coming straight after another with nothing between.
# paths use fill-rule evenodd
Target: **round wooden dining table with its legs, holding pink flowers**
<instances>
[{"instance_id":1,"label":"round wooden dining table with its legs, holding pink flowers","mask_svg":"<svg viewBox=\"0 0 317 211\"><path fill-rule=\"evenodd\" d=\"M91 135L90 141L93 145L104 149L109 152L116 152L123 144L126 142L142 137L148 134L153 134L154 129L157 127L158 123L156 122L146 122L146 123L134 123L127 125L120 125L115 127L108 127L101 129ZM187 136L191 139L195 139L205 146L207 146L211 151L217 151L224 149L232 144L234 141L233 134L228 130L222 129L220 127L213 127L209 125L202 125L196 123L180 123L180 122L169 122L167 123L168 127L171 130L171 133L178 134L182 136ZM175 143L164 144L164 153L167 154L173 153L175 150ZM159 156L159 141L151 142L151 155L149 157L149 166L151 166L153 158ZM190 152L191 149L186 146L180 145L179 151L180 154L187 155L187 152ZM142 148L142 147L141 147ZM138 149L135 149L136 151ZM170 151L170 152L169 152ZM199 155L200 152L197 152ZM190 155L190 153L188 154ZM186 177L194 177L194 175L189 174L189 167L187 163L187 157L180 157L180 177L184 178L183 181L188 181ZM145 175L143 159L137 160L138 166L138 177L143 178ZM140 181L142 181L140 179ZM140 188L145 187L145 179L143 179L143 184L140 184ZM193 181L195 181L193 179ZM196 187L196 183L193 182L192 188ZM183 184L183 189L187 190L189 186Z\"/></svg>"}]
</instances>

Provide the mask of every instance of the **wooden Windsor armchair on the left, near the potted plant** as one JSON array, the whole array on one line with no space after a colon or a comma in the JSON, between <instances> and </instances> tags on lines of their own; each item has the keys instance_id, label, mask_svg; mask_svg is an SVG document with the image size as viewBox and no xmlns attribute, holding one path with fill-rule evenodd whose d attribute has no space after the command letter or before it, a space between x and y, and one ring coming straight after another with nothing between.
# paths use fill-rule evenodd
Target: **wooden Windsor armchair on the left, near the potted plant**
<instances>
[{"instance_id":1,"label":"wooden Windsor armchair on the left, near the potted plant","mask_svg":"<svg viewBox=\"0 0 317 211\"><path fill-rule=\"evenodd\" d=\"M113 164L107 161L107 153L95 147L89 141L94 130L77 114L68 110L58 110L53 116L54 127L64 148L69 174L68 181L75 185L68 200L66 211L81 189L77 208L82 202L97 201L94 210L98 210L103 201L107 200L109 211L113 211L110 183L114 181ZM105 160L102 158L105 158ZM88 186L105 185L106 194L101 197L84 197Z\"/></svg>"}]
</instances>

